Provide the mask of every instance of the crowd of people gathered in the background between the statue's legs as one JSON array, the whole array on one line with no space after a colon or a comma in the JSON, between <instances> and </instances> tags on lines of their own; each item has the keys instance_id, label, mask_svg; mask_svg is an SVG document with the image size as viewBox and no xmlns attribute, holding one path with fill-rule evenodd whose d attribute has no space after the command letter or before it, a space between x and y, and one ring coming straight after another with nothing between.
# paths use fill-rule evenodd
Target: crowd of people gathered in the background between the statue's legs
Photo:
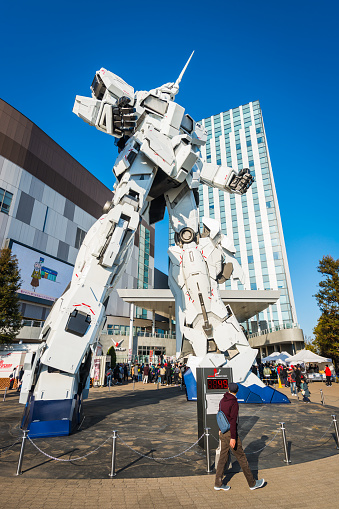
<instances>
[{"instance_id":1,"label":"crowd of people gathered in the background between the statue's legs","mask_svg":"<svg viewBox=\"0 0 339 509\"><path fill-rule=\"evenodd\" d=\"M181 363L164 362L152 363L118 363L114 368L106 371L105 385L122 385L123 382L134 381L147 383L161 383L163 386L184 385L186 365Z\"/></svg>"}]
</instances>

